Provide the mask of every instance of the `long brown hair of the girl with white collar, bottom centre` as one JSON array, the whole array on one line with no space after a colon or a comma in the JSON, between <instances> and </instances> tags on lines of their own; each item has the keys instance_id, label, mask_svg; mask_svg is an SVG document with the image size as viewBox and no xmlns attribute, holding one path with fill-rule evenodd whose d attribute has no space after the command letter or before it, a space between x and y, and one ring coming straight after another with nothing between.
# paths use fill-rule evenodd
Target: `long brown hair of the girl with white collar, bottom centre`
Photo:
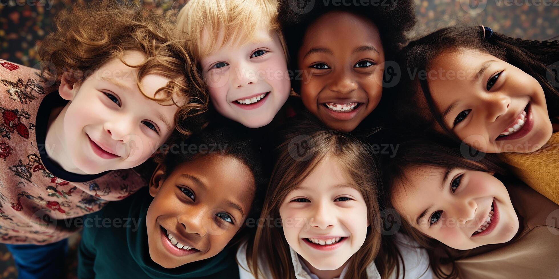
<instances>
[{"instance_id":1,"label":"long brown hair of the girl with white collar, bottom centre","mask_svg":"<svg viewBox=\"0 0 559 279\"><path fill-rule=\"evenodd\" d=\"M377 201L376 160L363 150L366 143L349 134L332 131L311 116L287 124L277 146L276 165L272 171L266 200L254 239L249 240L247 263L250 271L259 278L259 266L266 266L275 279L295 279L289 244L281 227L263 224L263 220L280 218L280 206L287 194L326 156L333 156L344 171L352 177L361 191L368 209L367 236L363 246L349 259L345 277L367 278L367 266L375 261L381 246L380 222ZM297 148L299 147L299 150ZM301 153L301 147L306 148ZM299 153L297 153L299 151ZM389 273L394 266L377 265L381 273ZM261 275L260 275L261 276ZM260 277L261 278L261 277Z\"/></svg>"}]
</instances>

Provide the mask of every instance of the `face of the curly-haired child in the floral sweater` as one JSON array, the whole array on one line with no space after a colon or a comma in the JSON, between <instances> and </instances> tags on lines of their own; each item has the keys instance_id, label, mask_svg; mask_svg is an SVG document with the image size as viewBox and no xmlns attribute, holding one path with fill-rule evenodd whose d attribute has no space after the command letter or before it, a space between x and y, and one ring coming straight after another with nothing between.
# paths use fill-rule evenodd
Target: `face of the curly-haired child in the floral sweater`
<instances>
[{"instance_id":1,"label":"face of the curly-haired child in the floral sweater","mask_svg":"<svg viewBox=\"0 0 559 279\"><path fill-rule=\"evenodd\" d=\"M137 65L144 57L140 52L126 52L124 60ZM138 166L173 131L178 107L144 97L136 86L136 74L136 69L117 58L79 86L72 87L65 81L60 85L61 97L70 100L64 114L64 147L77 169L98 174ZM140 86L153 98L168 81L150 74Z\"/></svg>"}]
</instances>

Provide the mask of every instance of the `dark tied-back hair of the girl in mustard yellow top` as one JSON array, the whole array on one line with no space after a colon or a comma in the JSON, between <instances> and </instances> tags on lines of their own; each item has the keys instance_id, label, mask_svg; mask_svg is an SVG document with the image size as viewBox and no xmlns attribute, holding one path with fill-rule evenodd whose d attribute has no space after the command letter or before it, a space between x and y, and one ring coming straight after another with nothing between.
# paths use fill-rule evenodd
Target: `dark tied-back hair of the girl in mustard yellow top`
<instances>
[{"instance_id":1,"label":"dark tied-back hair of the girl in mustard yellow top","mask_svg":"<svg viewBox=\"0 0 559 279\"><path fill-rule=\"evenodd\" d=\"M549 116L559 116L559 92L546 78L552 67L559 69L552 66L559 61L559 41L522 40L497 32L488 35L481 26L446 27L404 47L397 59L402 80L391 94L383 95L386 97L383 103L388 112L392 111L390 115L396 118L396 122L421 130L431 129L438 123L448 136L458 140L442 121L429 91L428 80L414 79L408 73L427 71L430 63L442 52L461 49L486 52L533 76L542 85Z\"/></svg>"}]
</instances>

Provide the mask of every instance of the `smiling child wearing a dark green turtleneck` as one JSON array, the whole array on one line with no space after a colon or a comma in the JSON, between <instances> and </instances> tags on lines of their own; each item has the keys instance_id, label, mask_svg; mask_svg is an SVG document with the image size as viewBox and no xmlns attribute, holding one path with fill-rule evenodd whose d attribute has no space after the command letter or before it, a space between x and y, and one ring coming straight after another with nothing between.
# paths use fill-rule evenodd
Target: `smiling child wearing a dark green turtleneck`
<instances>
[{"instance_id":1,"label":"smiling child wearing a dark green turtleneck","mask_svg":"<svg viewBox=\"0 0 559 279\"><path fill-rule=\"evenodd\" d=\"M235 249L228 243L257 216L267 183L260 145L243 128L209 127L170 145L149 189L88 215L85 224L131 219L139 225L86 227L78 277L234 277Z\"/></svg>"}]
</instances>

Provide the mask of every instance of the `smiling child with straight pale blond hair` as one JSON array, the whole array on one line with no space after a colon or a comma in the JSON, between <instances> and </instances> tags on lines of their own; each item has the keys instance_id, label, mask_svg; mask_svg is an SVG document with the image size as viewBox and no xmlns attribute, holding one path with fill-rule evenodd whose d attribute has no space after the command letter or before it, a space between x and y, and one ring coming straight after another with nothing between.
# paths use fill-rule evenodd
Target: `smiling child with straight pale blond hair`
<instances>
[{"instance_id":1,"label":"smiling child with straight pale blond hair","mask_svg":"<svg viewBox=\"0 0 559 279\"><path fill-rule=\"evenodd\" d=\"M178 16L215 110L249 128L270 123L291 92L277 14L276 0L191 0Z\"/></svg>"}]
</instances>

